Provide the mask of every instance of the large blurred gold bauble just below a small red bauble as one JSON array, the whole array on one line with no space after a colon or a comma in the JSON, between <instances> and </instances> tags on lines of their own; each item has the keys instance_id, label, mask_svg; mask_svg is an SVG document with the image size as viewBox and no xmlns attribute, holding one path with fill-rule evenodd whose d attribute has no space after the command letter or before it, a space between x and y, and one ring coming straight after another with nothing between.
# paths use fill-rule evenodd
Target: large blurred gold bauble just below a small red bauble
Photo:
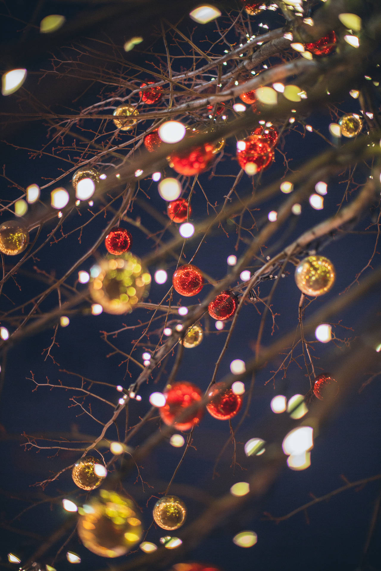
<instances>
[{"instance_id":1,"label":"large blurred gold bauble just below a small red bauble","mask_svg":"<svg viewBox=\"0 0 381 571\"><path fill-rule=\"evenodd\" d=\"M90 295L107 313L129 313L149 292L151 275L142 260L125 252L106 256L91 268Z\"/></svg>"}]
</instances>

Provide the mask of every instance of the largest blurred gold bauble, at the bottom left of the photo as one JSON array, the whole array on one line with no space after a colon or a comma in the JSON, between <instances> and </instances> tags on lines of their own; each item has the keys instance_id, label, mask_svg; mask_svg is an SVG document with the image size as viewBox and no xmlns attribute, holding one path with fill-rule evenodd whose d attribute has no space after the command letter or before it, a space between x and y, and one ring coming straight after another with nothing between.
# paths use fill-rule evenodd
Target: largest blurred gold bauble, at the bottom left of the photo
<instances>
[{"instance_id":1,"label":"largest blurred gold bauble, at the bottom left of the photo","mask_svg":"<svg viewBox=\"0 0 381 571\"><path fill-rule=\"evenodd\" d=\"M101 557L124 555L142 537L137 506L116 492L100 490L99 496L78 513L78 535L83 545Z\"/></svg>"}]
</instances>

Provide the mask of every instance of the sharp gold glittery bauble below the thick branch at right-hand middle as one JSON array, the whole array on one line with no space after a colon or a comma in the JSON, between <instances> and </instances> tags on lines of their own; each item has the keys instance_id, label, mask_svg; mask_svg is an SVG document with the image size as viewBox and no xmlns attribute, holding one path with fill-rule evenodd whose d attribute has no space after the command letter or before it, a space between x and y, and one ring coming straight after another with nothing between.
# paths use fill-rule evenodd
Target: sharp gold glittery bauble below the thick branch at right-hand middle
<instances>
[{"instance_id":1,"label":"sharp gold glittery bauble below the thick branch at right-hand middle","mask_svg":"<svg viewBox=\"0 0 381 571\"><path fill-rule=\"evenodd\" d=\"M334 264L324 256L308 256L295 270L296 286L306 295L323 295L335 282Z\"/></svg>"}]
</instances>

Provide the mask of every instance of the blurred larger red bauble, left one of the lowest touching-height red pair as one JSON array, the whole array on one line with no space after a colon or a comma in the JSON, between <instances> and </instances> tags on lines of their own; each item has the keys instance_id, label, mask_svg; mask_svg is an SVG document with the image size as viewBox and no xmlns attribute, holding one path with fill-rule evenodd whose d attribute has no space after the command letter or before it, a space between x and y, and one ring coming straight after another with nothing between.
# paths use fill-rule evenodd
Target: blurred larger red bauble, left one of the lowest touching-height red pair
<instances>
[{"instance_id":1,"label":"blurred larger red bauble, left one of the lowest touching-height red pair","mask_svg":"<svg viewBox=\"0 0 381 571\"><path fill-rule=\"evenodd\" d=\"M185 408L201 400L202 392L192 383L181 381L173 383L165 388L164 395L166 404L159 408L160 416L165 424L173 424L176 416L180 415ZM179 423L174 423L178 430L190 430L198 424L203 415L203 409L192 412L189 417Z\"/></svg>"}]
</instances>

